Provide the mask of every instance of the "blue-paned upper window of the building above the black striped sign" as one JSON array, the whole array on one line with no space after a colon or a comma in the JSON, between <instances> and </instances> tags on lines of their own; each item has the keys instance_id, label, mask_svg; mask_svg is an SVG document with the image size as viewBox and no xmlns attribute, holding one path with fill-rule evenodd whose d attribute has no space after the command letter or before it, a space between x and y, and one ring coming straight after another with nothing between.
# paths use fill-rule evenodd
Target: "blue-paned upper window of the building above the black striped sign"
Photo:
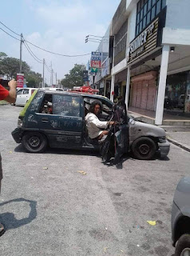
<instances>
[{"instance_id":1,"label":"blue-paned upper window of the building above the black striped sign","mask_svg":"<svg viewBox=\"0 0 190 256\"><path fill-rule=\"evenodd\" d=\"M165 6L166 0L140 0L137 3L136 36L141 34Z\"/></svg>"}]
</instances>

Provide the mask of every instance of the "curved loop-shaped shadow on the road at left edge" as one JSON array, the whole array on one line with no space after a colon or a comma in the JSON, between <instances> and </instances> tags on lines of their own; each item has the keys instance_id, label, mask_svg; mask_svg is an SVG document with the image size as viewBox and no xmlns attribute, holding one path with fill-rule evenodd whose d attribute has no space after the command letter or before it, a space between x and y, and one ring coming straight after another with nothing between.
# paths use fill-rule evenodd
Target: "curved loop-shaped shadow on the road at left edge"
<instances>
[{"instance_id":1,"label":"curved loop-shaped shadow on the road at left edge","mask_svg":"<svg viewBox=\"0 0 190 256\"><path fill-rule=\"evenodd\" d=\"M2 202L0 203L0 207L1 206L5 206L8 203L11 202L29 202L30 203L30 213L29 213L29 217L27 218L22 218L22 219L17 219L14 217L13 213L4 213L4 214L0 214L0 222L3 223L3 225L5 226L6 230L13 230L13 229L17 229L20 226L24 226L26 224L29 224L30 222L32 222L34 220L34 218L37 217L37 210L36 210L36 201L32 201L32 200L27 200L25 198L16 198L7 202ZM19 207L19 205L18 205Z\"/></svg>"}]
</instances>

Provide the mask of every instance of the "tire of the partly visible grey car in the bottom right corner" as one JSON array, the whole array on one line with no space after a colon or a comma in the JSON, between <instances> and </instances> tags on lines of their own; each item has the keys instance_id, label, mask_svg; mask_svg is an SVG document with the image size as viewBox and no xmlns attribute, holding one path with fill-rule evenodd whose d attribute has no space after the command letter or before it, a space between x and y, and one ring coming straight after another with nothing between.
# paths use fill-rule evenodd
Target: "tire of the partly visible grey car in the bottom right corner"
<instances>
[{"instance_id":1,"label":"tire of the partly visible grey car in the bottom right corner","mask_svg":"<svg viewBox=\"0 0 190 256\"><path fill-rule=\"evenodd\" d=\"M190 234L183 234L180 237L176 243L175 256L184 256L185 251L188 251L190 254Z\"/></svg>"}]
</instances>

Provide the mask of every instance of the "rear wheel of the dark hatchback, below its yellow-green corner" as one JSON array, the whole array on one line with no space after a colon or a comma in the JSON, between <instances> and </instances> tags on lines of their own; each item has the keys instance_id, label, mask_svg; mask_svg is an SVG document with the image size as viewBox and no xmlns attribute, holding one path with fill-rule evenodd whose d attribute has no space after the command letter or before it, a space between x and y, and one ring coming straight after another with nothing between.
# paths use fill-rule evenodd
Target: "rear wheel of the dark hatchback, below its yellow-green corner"
<instances>
[{"instance_id":1,"label":"rear wheel of the dark hatchback, below its yellow-green corner","mask_svg":"<svg viewBox=\"0 0 190 256\"><path fill-rule=\"evenodd\" d=\"M26 152L41 153L46 150L47 139L46 136L38 132L27 132L22 137L22 146Z\"/></svg>"}]
</instances>

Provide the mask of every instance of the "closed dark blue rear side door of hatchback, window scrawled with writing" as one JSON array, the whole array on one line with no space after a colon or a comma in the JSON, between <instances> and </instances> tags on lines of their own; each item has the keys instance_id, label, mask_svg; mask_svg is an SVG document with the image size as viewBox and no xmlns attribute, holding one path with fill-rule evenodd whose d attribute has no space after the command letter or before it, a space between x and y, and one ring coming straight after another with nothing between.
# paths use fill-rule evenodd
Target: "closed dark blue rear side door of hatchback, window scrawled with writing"
<instances>
[{"instance_id":1,"label":"closed dark blue rear side door of hatchback, window scrawled with writing","mask_svg":"<svg viewBox=\"0 0 190 256\"><path fill-rule=\"evenodd\" d=\"M49 102L46 102L47 107L48 105ZM81 147L81 97L52 94L51 108L51 112L45 110L45 113L42 111L38 114L40 129L49 138L49 145L62 148Z\"/></svg>"}]
</instances>

